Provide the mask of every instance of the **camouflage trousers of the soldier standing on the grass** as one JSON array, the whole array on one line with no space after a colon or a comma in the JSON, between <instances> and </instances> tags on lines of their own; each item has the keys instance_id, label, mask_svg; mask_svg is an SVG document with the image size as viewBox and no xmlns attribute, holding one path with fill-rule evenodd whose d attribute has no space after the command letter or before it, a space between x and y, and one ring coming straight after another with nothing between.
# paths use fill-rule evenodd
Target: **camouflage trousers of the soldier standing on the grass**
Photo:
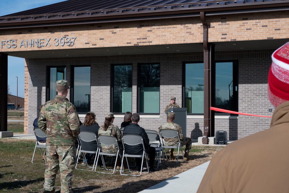
<instances>
[{"instance_id":1,"label":"camouflage trousers of the soldier standing on the grass","mask_svg":"<svg viewBox=\"0 0 289 193\"><path fill-rule=\"evenodd\" d=\"M75 146L46 146L43 192L55 192L55 177L60 169L61 193L72 193Z\"/></svg>"}]
</instances>

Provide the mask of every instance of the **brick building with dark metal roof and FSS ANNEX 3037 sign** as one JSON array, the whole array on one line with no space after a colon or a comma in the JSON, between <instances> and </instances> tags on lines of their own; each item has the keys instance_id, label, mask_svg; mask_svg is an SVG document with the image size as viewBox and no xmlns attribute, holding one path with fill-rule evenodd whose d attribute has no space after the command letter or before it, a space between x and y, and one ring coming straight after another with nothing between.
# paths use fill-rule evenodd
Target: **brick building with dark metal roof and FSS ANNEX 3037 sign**
<instances>
[{"instance_id":1,"label":"brick building with dark metal roof and FSS ANNEX 3037 sign","mask_svg":"<svg viewBox=\"0 0 289 193\"><path fill-rule=\"evenodd\" d=\"M67 98L82 121L94 111L101 124L114 112L120 126L131 111L157 130L175 96L193 139L205 127L229 139L269 127L270 118L209 109L272 115L267 74L271 54L289 38L288 0L86 2L0 17L1 67L7 54L25 58L25 133L60 79L69 81Z\"/></svg>"}]
</instances>

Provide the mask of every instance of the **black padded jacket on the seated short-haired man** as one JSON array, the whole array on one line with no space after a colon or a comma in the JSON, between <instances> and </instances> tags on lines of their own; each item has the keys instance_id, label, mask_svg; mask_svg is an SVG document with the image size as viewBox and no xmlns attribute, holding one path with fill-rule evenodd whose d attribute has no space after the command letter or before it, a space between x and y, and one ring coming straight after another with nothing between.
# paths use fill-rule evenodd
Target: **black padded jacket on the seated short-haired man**
<instances>
[{"instance_id":1,"label":"black padded jacket on the seated short-haired man","mask_svg":"<svg viewBox=\"0 0 289 193\"><path fill-rule=\"evenodd\" d=\"M147 133L145 132L144 128L140 127L136 123L129 123L128 126L126 126L123 130L123 135L140 135L142 136L142 139L144 140L144 148L147 152L149 150L149 137L147 136ZM138 144L136 146L129 146L125 145L125 152L127 154L131 155L142 155L142 144Z\"/></svg>"}]
</instances>

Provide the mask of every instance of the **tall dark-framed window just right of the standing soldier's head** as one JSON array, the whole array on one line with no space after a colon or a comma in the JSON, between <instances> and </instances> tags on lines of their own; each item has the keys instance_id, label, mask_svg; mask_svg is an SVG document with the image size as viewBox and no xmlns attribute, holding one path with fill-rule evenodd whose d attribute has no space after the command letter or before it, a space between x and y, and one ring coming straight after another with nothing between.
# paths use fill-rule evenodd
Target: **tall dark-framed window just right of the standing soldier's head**
<instances>
[{"instance_id":1,"label":"tall dark-framed window just right of the standing soldier's head","mask_svg":"<svg viewBox=\"0 0 289 193\"><path fill-rule=\"evenodd\" d=\"M90 111L90 66L72 68L72 103L77 113L86 114Z\"/></svg>"}]
</instances>

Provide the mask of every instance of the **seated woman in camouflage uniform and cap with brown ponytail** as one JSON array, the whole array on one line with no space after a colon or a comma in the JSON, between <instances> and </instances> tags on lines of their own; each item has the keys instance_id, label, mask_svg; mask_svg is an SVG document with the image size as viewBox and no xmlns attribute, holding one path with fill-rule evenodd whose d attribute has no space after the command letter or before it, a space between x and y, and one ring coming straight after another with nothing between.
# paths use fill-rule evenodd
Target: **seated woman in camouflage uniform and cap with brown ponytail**
<instances>
[{"instance_id":1,"label":"seated woman in camouflage uniform and cap with brown ponytail","mask_svg":"<svg viewBox=\"0 0 289 193\"><path fill-rule=\"evenodd\" d=\"M104 125L102 125L99 130L98 130L98 135L109 135L109 136L113 136L116 137L119 147L120 147L120 151L122 151L122 146L121 146L121 131L118 128L118 126L112 124L114 120L114 115L113 113L105 113L105 120L104 120ZM113 145L113 146L101 146L101 151L105 152L105 153L117 153L117 146ZM116 163L116 169L120 169L121 166L121 159L118 158L117 159L117 163Z\"/></svg>"}]
</instances>

